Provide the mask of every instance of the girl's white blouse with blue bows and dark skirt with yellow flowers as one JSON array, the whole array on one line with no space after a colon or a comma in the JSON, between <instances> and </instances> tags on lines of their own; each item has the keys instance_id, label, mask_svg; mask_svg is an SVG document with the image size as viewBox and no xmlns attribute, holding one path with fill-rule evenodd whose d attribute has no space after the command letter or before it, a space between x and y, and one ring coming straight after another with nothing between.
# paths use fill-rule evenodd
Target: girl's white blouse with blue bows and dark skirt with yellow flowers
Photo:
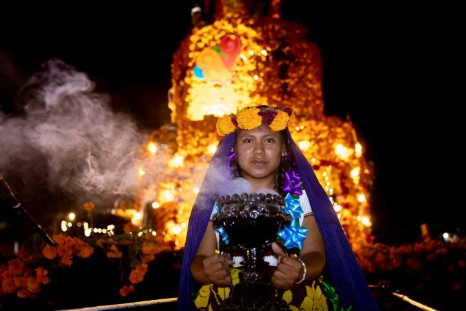
<instances>
[{"instance_id":1,"label":"girl's white blouse with blue bows and dark skirt with yellow flowers","mask_svg":"<svg viewBox=\"0 0 466 311\"><path fill-rule=\"evenodd\" d=\"M306 192L302 190L302 194L299 196L288 195L286 198L287 211L292 215L292 222L290 227L302 228L304 229L304 237L300 238L299 234L291 237L294 232L299 232L296 229L290 229L285 227L280 232L278 232L277 241L284 244L285 247L290 248L289 252L291 254L299 253L299 245L293 245L293 241L299 241L302 243L302 240L305 238L305 232L307 229L300 227L304 217L312 215L311 205L309 199L307 198ZM217 212L214 208L212 216ZM212 217L211 217L212 218ZM222 235L219 233L220 230L216 232L217 234L217 245L220 250L226 244ZM298 242L299 243L299 242ZM200 290L193 292L193 302L197 310L219 310L222 301L227 299L233 290L233 287L240 282L239 273L240 273L240 262L243 260L242 257L233 256L233 263L237 267L231 268L231 279L232 282L229 286L222 287L215 284L204 285ZM275 256L264 256L264 261L269 262L269 265L277 265L277 259ZM351 307L344 309L340 306L340 301L336 289L324 281L323 276L320 276L319 279L304 281L298 285L294 285L289 290L278 290L279 296L282 297L284 301L289 306L289 310L351 310Z\"/></svg>"}]
</instances>

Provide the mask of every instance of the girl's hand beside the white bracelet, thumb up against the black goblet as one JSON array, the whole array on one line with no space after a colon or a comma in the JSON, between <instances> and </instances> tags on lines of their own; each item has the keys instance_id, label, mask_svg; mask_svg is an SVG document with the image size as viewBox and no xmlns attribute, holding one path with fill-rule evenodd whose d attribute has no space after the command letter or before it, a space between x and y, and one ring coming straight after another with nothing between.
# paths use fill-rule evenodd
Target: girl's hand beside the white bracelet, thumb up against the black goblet
<instances>
[{"instance_id":1,"label":"girl's hand beside the white bracelet, thumb up against the black goblet","mask_svg":"<svg viewBox=\"0 0 466 311\"><path fill-rule=\"evenodd\" d=\"M302 278L304 270L298 259L287 256L277 243L272 243L272 249L278 255L278 265L271 277L271 283L275 288L288 290Z\"/></svg>"}]
</instances>

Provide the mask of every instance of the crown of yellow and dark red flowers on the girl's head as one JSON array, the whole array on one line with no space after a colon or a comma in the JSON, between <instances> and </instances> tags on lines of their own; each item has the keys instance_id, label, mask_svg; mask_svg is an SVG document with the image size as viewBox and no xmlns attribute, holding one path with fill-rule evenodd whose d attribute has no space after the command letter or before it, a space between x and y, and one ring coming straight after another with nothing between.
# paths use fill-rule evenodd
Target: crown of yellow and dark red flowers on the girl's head
<instances>
[{"instance_id":1,"label":"crown of yellow and dark red flowers on the girl's head","mask_svg":"<svg viewBox=\"0 0 466 311\"><path fill-rule=\"evenodd\" d=\"M295 115L291 108L257 106L241 109L236 115L224 115L217 121L217 133L220 136L239 130L251 130L265 124L272 131L278 132L293 124Z\"/></svg>"}]
</instances>

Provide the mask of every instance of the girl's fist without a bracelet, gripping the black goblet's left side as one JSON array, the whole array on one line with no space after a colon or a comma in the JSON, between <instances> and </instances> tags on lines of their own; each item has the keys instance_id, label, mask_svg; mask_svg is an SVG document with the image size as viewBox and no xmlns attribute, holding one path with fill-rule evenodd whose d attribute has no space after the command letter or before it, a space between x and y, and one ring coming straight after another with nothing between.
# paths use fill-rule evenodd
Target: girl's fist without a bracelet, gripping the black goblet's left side
<instances>
[{"instance_id":1,"label":"girl's fist without a bracelet, gripping the black goblet's left side","mask_svg":"<svg viewBox=\"0 0 466 311\"><path fill-rule=\"evenodd\" d=\"M230 265L233 261L226 254L213 254L207 256L202 261L204 265L204 274L219 286L226 286L231 283Z\"/></svg>"}]
</instances>

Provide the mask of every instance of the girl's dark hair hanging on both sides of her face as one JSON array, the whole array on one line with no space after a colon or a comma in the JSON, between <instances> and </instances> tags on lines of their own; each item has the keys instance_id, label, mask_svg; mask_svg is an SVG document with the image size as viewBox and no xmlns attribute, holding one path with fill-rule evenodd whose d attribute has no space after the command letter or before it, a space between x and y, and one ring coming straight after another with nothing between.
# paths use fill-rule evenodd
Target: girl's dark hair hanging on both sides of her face
<instances>
[{"instance_id":1,"label":"girl's dark hair hanging on both sides of her face","mask_svg":"<svg viewBox=\"0 0 466 311\"><path fill-rule=\"evenodd\" d=\"M237 140L237 132L238 130L235 131L235 144L234 144L234 149L236 150L236 140ZM283 186L284 186L284 172L287 171L291 167L291 145L288 141L287 133L282 130L280 131L280 135L282 135L282 141L285 145L285 150L287 155L282 156L282 160L280 162L280 166L278 167L277 171L275 172L275 186L274 189L277 191L279 194L282 194L284 196L284 191L283 191ZM240 165L238 164L236 157L231 161L230 165L230 176L231 178L235 179L238 177L241 177L241 168Z\"/></svg>"}]
</instances>

